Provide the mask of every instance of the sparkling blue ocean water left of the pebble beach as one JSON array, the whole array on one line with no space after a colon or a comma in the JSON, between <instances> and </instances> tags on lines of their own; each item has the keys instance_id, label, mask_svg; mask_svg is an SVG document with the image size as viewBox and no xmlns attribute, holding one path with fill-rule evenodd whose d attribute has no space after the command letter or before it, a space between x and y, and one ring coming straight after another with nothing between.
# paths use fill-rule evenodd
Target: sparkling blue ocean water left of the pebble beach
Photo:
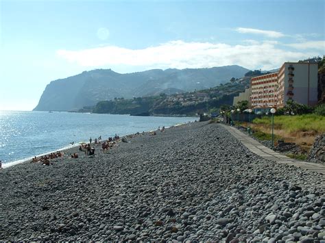
<instances>
[{"instance_id":1,"label":"sparkling blue ocean water left of the pebble beach","mask_svg":"<svg viewBox=\"0 0 325 243\"><path fill-rule=\"evenodd\" d=\"M0 160L3 168L31 157L137 131L152 131L194 121L195 117L129 116L69 112L0 111Z\"/></svg>"}]
</instances>

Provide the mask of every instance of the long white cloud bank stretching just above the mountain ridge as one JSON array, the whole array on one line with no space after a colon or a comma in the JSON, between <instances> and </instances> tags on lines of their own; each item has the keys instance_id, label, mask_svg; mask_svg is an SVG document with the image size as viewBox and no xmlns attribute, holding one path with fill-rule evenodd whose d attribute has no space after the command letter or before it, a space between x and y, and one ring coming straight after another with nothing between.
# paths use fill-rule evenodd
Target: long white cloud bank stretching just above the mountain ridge
<instances>
[{"instance_id":1,"label":"long white cloud bank stretching just above the mountain ridge","mask_svg":"<svg viewBox=\"0 0 325 243\"><path fill-rule=\"evenodd\" d=\"M106 46L80 51L59 50L59 57L84 67L112 66L149 68L207 68L238 64L246 68L272 69L283 62L297 61L320 55L317 52L298 52L279 49L276 42L250 42L230 45L210 42L175 40L145 49L126 49ZM123 68L127 69L127 68Z\"/></svg>"}]
</instances>

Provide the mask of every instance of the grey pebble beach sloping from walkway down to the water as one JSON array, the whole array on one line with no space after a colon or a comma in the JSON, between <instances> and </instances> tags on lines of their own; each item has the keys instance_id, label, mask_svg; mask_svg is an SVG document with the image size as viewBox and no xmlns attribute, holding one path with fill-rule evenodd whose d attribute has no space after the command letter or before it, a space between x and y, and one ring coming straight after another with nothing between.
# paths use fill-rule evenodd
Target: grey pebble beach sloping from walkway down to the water
<instances>
[{"instance_id":1,"label":"grey pebble beach sloping from walkway down to the water","mask_svg":"<svg viewBox=\"0 0 325 243\"><path fill-rule=\"evenodd\" d=\"M323 176L261 159L216 123L127 140L1 170L0 240L324 242Z\"/></svg>"}]
</instances>

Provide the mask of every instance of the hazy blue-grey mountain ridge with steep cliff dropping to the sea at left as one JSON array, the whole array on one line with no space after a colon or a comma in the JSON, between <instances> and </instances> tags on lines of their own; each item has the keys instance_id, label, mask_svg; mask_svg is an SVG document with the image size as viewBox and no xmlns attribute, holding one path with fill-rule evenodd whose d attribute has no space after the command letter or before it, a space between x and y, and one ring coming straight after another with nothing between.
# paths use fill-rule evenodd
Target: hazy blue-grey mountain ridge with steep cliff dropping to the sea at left
<instances>
[{"instance_id":1,"label":"hazy blue-grey mountain ridge with steep cliff dropping to the sea at left","mask_svg":"<svg viewBox=\"0 0 325 243\"><path fill-rule=\"evenodd\" d=\"M243 77L249 69L238 65L213 68L151 69L136 73L117 73L111 69L84 71L47 84L34 110L79 110L98 101L115 97L131 99L159 92L187 92L211 88Z\"/></svg>"}]
</instances>

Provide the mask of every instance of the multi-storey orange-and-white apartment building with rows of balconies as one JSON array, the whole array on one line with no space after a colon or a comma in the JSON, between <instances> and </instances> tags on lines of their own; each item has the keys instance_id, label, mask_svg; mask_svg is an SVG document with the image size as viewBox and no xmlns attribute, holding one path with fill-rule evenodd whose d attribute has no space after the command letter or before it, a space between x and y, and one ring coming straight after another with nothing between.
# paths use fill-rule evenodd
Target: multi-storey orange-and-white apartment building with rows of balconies
<instances>
[{"instance_id":1,"label":"multi-storey orange-and-white apartment building with rows of balconies","mask_svg":"<svg viewBox=\"0 0 325 243\"><path fill-rule=\"evenodd\" d=\"M251 107L283 107L288 100L316 105L317 73L316 63L285 62L278 73L253 77L250 81Z\"/></svg>"}]
</instances>

